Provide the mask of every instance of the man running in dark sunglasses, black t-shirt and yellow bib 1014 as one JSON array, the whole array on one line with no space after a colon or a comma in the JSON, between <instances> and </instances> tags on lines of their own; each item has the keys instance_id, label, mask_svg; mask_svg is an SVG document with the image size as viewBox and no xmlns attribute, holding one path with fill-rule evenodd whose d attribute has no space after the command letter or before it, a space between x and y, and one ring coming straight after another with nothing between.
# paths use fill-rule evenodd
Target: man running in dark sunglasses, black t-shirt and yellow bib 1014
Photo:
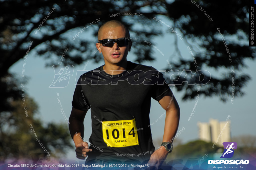
<instances>
[{"instance_id":1,"label":"man running in dark sunglasses, black t-shirt and yellow bib 1014","mask_svg":"<svg viewBox=\"0 0 256 170\"><path fill-rule=\"evenodd\" d=\"M85 159L88 155L87 161L94 159L101 163L136 159L157 164L165 160L173 148L169 141L177 132L180 109L176 99L171 98L173 93L162 73L152 66L127 61L132 41L129 30L119 21L106 22L99 28L96 47L105 65L80 76L69 118L77 158ZM147 126L151 98L166 110L163 146L156 151L151 128ZM90 148L81 139L88 106L92 119L89 142L95 146Z\"/></svg>"}]
</instances>

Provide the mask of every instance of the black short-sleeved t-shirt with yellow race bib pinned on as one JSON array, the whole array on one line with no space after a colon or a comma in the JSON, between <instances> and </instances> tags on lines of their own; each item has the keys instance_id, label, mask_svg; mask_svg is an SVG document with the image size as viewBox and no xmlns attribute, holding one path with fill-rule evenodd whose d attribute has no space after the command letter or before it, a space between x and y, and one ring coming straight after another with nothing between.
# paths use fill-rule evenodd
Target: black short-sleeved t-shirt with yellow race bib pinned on
<instances>
[{"instance_id":1,"label":"black short-sleeved t-shirt with yellow race bib pinned on","mask_svg":"<svg viewBox=\"0 0 256 170\"><path fill-rule=\"evenodd\" d=\"M91 108L92 134L89 142L93 151L88 153L88 159L149 159L155 150L148 127L151 98L159 101L169 92L162 73L152 66L131 61L127 61L126 71L119 75L107 74L103 66L81 75L72 106L83 111ZM134 119L135 123L131 125ZM113 140L112 147L104 142L103 137L105 141ZM127 142L127 138L133 142ZM136 138L137 143L134 142Z\"/></svg>"}]
</instances>

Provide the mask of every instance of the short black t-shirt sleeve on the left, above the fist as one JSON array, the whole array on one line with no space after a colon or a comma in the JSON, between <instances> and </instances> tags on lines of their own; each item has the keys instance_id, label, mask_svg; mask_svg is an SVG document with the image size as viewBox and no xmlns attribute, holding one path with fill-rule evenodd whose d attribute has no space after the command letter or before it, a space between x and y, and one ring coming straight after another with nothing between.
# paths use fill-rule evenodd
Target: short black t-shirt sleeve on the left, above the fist
<instances>
[{"instance_id":1,"label":"short black t-shirt sleeve on the left, above the fist","mask_svg":"<svg viewBox=\"0 0 256 170\"><path fill-rule=\"evenodd\" d=\"M83 111L87 111L91 108L88 100L86 99L86 95L82 90L80 78L77 82L76 89L74 91L72 107L78 110L83 110Z\"/></svg>"}]
</instances>

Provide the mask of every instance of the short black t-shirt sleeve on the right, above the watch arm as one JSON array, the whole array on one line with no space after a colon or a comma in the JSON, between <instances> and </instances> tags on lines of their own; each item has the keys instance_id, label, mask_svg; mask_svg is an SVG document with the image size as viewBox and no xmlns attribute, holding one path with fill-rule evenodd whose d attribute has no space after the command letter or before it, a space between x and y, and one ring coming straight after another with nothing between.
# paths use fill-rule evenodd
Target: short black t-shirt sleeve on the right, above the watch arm
<instances>
[{"instance_id":1,"label":"short black t-shirt sleeve on the right, above the watch arm","mask_svg":"<svg viewBox=\"0 0 256 170\"><path fill-rule=\"evenodd\" d=\"M156 69L152 67L152 70ZM154 84L152 87L152 98L159 101L164 96L166 96L170 91L171 89L169 88L169 84L165 82L163 74L159 72L158 82Z\"/></svg>"}]
</instances>

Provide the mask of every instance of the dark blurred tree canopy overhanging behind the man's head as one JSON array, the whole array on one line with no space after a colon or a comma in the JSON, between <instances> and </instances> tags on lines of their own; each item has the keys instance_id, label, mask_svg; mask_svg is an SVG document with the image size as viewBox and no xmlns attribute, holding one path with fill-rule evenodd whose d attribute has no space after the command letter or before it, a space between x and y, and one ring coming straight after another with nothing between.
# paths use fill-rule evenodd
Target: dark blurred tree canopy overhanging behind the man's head
<instances>
[{"instance_id":1,"label":"dark blurred tree canopy overhanging behind the man's head","mask_svg":"<svg viewBox=\"0 0 256 170\"><path fill-rule=\"evenodd\" d=\"M37 48L38 55L47 59L46 65L52 66L56 63L51 58L59 55L66 47L69 51L65 55L65 64L81 64L83 61L93 59L98 62L102 59L101 54L91 55L95 51L95 42L89 39L72 39L81 28L87 26L93 21L97 21L92 26L82 31L86 34L89 30L93 31L93 35L97 36L97 30L103 22L116 19L122 20L127 24L131 33L137 40L133 40L135 48L136 62L153 61L153 49L150 45L144 43L144 40L151 40L152 37L164 35L165 33L159 29L159 24L153 20L154 16L165 16L174 22L174 28L183 34L183 38L191 46L193 51L197 52L196 62L199 70L209 67L224 69L222 75L211 75L211 80L200 89L201 94L205 96L219 96L225 101L232 93L232 80L230 78L231 70L236 70L236 92L234 96L242 96L244 93L242 88L250 80L250 76L239 73L243 67L246 67L244 60L255 59L253 49L248 46L249 34L249 1L196 1L208 13L213 21L204 14L195 4L191 4L188 0L174 1L167 3L166 1L1 1L0 11L2 17L0 19L0 39L2 45L2 64L0 68L4 75L8 68L26 54L29 41L33 41L30 48ZM227 7L227 10L219 12L216 10ZM232 7L230 7L232 4ZM56 7L56 10L53 10ZM41 23L47 14L52 10L50 16L44 23ZM141 13L141 16L116 16L109 17L109 14L120 12ZM42 24L37 34L35 31ZM135 27L136 26L136 27ZM229 51L232 55L230 62L225 46L219 37L217 28L226 38L229 45ZM172 30L168 30L172 33ZM176 37L177 38L177 37ZM176 51L169 54L168 58L180 55L178 47L178 38L175 41ZM152 40L151 40L152 42ZM190 44L191 43L191 44ZM189 55L189 54L188 54ZM33 56L30 56L33 57ZM184 59L182 56L177 63L172 63L176 70L190 68L193 73L196 70L192 59ZM168 70L168 69L166 69ZM180 71L181 72L181 71ZM3 86L3 85L2 85ZM196 86L183 83L178 85L177 89L185 91L184 100L195 98ZM4 99L6 100L6 99Z\"/></svg>"}]
</instances>

